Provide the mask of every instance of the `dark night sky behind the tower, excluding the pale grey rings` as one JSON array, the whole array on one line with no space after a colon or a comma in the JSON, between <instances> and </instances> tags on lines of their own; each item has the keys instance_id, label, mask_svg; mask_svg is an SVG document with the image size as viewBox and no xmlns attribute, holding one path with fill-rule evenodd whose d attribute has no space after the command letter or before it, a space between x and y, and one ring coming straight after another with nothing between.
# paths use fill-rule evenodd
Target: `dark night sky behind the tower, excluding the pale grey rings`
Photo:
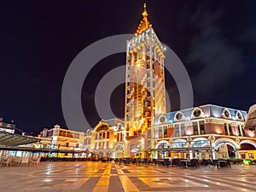
<instances>
[{"instance_id":1,"label":"dark night sky behind the tower, excluding the pale grey rings","mask_svg":"<svg viewBox=\"0 0 256 192\"><path fill-rule=\"evenodd\" d=\"M6 1L0 5L0 116L27 133L67 127L61 86L68 66L90 43L134 33L144 1ZM148 20L161 42L177 54L189 73L194 105L218 104L248 110L256 103L256 2L146 1ZM125 42L124 42L125 43ZM125 54L102 59L86 77L84 116L100 121L94 104L104 74L125 65ZM166 64L168 65L168 64ZM171 110L179 94L166 73ZM124 116L124 84L112 94L116 116Z\"/></svg>"}]
</instances>

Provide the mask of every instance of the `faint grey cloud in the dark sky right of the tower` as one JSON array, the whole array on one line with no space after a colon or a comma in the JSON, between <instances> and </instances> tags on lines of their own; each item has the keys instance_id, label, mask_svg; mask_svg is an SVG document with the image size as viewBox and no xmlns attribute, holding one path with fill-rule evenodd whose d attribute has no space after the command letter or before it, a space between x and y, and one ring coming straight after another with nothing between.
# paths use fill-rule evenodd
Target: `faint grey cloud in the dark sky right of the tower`
<instances>
[{"instance_id":1,"label":"faint grey cloud in the dark sky right of the tower","mask_svg":"<svg viewBox=\"0 0 256 192\"><path fill-rule=\"evenodd\" d=\"M244 65L243 52L224 36L224 9L201 6L192 17L198 34L192 39L187 61L198 71L192 76L197 93L207 96L225 88Z\"/></svg>"}]
</instances>

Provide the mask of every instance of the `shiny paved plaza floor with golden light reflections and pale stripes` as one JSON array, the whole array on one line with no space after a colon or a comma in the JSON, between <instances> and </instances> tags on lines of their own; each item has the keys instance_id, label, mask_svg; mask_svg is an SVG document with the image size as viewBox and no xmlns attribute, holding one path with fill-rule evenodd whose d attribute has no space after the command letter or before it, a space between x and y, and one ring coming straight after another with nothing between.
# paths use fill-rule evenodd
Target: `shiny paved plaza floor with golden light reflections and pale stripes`
<instances>
[{"instance_id":1,"label":"shiny paved plaza floor with golden light reflections and pale stripes","mask_svg":"<svg viewBox=\"0 0 256 192\"><path fill-rule=\"evenodd\" d=\"M256 166L213 170L41 162L38 167L0 167L0 191L256 191L255 176Z\"/></svg>"}]
</instances>

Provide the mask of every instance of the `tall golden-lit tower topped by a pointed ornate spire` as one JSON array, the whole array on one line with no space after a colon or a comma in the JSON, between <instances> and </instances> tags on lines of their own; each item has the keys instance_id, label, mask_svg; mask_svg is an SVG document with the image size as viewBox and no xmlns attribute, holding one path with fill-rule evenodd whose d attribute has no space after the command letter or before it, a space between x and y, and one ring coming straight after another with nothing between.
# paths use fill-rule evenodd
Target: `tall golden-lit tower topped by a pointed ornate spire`
<instances>
[{"instance_id":1,"label":"tall golden-lit tower topped by a pointed ornate spire","mask_svg":"<svg viewBox=\"0 0 256 192\"><path fill-rule=\"evenodd\" d=\"M136 138L153 127L155 115L166 113L164 47L148 21L143 20L126 44L125 131Z\"/></svg>"}]
</instances>

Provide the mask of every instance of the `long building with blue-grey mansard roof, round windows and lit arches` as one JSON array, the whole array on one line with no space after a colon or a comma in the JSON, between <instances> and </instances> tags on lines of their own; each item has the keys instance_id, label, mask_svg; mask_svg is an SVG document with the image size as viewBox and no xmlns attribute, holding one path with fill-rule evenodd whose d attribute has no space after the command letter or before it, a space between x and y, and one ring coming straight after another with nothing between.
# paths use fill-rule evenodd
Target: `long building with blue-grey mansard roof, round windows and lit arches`
<instances>
[{"instance_id":1,"label":"long building with blue-grey mansard roof, round windows and lit arches","mask_svg":"<svg viewBox=\"0 0 256 192\"><path fill-rule=\"evenodd\" d=\"M152 150L154 158L245 157L241 149L255 150L256 147L254 129L244 127L246 118L246 111L212 104L155 116L155 146L148 148L156 149Z\"/></svg>"}]
</instances>

